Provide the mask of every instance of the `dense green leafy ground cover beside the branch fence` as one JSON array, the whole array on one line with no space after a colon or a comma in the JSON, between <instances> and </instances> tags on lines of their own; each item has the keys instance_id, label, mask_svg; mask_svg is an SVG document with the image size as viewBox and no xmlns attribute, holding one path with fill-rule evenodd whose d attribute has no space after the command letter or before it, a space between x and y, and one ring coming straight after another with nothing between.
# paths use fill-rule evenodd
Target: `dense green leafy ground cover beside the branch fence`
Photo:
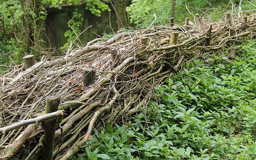
<instances>
[{"instance_id":1,"label":"dense green leafy ground cover beside the branch fence","mask_svg":"<svg viewBox=\"0 0 256 160\"><path fill-rule=\"evenodd\" d=\"M95 131L74 159L254 159L255 69L255 42L194 59L132 121Z\"/></svg>"}]
</instances>

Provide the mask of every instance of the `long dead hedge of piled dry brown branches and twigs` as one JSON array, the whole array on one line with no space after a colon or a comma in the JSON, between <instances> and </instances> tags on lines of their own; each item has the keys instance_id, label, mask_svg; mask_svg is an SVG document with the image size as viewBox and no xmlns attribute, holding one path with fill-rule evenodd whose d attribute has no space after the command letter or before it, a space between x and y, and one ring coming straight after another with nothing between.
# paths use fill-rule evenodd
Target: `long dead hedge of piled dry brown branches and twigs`
<instances>
[{"instance_id":1,"label":"long dead hedge of piled dry brown branches and twigs","mask_svg":"<svg viewBox=\"0 0 256 160\"><path fill-rule=\"evenodd\" d=\"M25 70L11 66L0 77L0 159L40 157L41 122L54 117L59 117L54 157L75 155L94 128L137 112L152 97L154 86L192 57L221 50L241 37L255 38L255 15L227 18L208 23L195 16L194 25L120 32L74 50L71 44L65 56L44 57ZM90 85L84 82L88 70L96 73ZM45 98L52 95L60 97L58 111L45 115Z\"/></svg>"}]
</instances>

